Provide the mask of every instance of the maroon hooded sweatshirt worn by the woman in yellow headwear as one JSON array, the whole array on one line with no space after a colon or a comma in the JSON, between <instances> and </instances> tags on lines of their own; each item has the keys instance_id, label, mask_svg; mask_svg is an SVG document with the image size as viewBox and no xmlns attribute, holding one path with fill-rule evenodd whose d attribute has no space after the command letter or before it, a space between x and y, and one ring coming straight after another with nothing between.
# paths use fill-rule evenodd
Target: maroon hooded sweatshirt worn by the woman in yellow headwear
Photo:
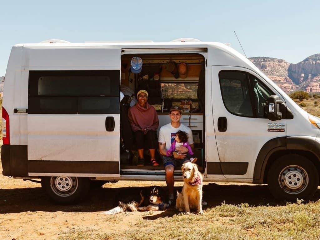
<instances>
[{"instance_id":1,"label":"maroon hooded sweatshirt worn by the woman in yellow headwear","mask_svg":"<svg viewBox=\"0 0 320 240\"><path fill-rule=\"evenodd\" d=\"M156 131L159 126L156 108L146 103L145 108L137 102L128 110L128 119L133 132L146 128L147 130Z\"/></svg>"}]
</instances>

